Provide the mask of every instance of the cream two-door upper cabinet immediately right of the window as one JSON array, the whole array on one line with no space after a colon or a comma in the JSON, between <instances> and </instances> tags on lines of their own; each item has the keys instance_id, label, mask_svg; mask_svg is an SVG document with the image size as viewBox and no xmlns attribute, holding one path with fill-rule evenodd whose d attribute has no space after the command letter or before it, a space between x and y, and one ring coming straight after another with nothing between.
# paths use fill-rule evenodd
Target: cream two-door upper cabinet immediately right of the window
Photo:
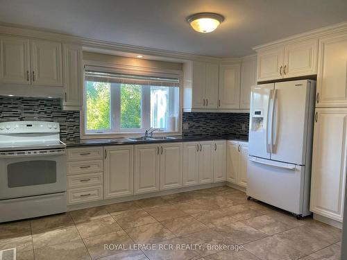
<instances>
[{"instance_id":1,"label":"cream two-door upper cabinet immediately right of the window","mask_svg":"<svg viewBox=\"0 0 347 260\"><path fill-rule=\"evenodd\" d=\"M218 64L187 62L183 66L183 108L217 109Z\"/></svg>"}]
</instances>

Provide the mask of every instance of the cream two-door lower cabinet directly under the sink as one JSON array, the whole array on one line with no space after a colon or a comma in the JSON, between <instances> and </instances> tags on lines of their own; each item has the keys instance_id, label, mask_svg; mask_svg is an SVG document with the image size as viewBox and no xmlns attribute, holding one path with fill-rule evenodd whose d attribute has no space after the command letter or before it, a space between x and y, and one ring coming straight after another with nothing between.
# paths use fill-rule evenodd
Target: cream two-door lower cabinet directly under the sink
<instances>
[{"instance_id":1,"label":"cream two-door lower cabinet directly under the sink","mask_svg":"<svg viewBox=\"0 0 347 260\"><path fill-rule=\"evenodd\" d=\"M135 146L134 193L182 187L182 143Z\"/></svg>"}]
</instances>

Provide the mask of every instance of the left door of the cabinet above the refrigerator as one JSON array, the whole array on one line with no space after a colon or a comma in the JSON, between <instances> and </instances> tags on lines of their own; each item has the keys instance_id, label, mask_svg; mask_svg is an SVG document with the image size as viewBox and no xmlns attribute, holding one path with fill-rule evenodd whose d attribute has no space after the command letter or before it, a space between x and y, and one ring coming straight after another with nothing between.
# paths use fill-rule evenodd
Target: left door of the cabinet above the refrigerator
<instances>
[{"instance_id":1,"label":"left door of the cabinet above the refrigerator","mask_svg":"<svg viewBox=\"0 0 347 260\"><path fill-rule=\"evenodd\" d=\"M258 51L257 81L283 78L283 48Z\"/></svg>"}]
</instances>

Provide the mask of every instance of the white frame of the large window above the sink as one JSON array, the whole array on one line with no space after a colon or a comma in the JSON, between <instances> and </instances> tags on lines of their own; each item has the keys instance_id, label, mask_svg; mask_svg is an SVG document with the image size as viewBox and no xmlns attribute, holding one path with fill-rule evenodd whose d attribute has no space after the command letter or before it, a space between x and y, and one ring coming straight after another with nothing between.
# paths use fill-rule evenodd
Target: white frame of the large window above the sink
<instances>
[{"instance_id":1,"label":"white frame of the large window above the sink","mask_svg":"<svg viewBox=\"0 0 347 260\"><path fill-rule=\"evenodd\" d=\"M99 139L99 138L118 138L118 137L137 137L137 136L143 136L144 131L148 129L151 125L151 94L149 93L148 100L144 98L146 91L150 92L149 87L144 87L142 89L142 128L139 130L126 130L116 127L116 120L112 119L113 116L117 118L117 121L119 121L119 127L120 127L120 116L117 116L116 113L119 113L117 111L117 106L120 105L119 101L113 100L116 96L115 93L117 89L115 87L111 87L111 101L110 101L110 107L111 107L111 132L105 131L105 132L99 132L99 130L90 130L86 132L86 116L87 116L87 110L85 110L85 68L88 69L95 69L95 70L102 70L105 72L117 72L117 73L128 73L128 74L137 74L137 75L144 75L144 76L158 76L158 77L176 77L179 79L178 84L178 95L175 98L178 98L178 108L177 108L177 130L175 132L166 132L164 130L156 131L153 133L155 136L170 136L170 135L182 135L182 116L183 116L183 71L178 70L171 70L171 69L158 69L158 68L151 68L151 67L141 67L141 66L133 66L133 65L124 65L124 64L113 64L109 62L95 62L95 61L88 61L85 60L83 62L83 105L82 110L80 113L80 133L81 133L81 139ZM111 83L111 84L119 84L119 83ZM117 98L119 99L119 98ZM118 103L117 103L118 102ZM144 104L146 103L146 104ZM143 109L143 105L148 107L146 111ZM172 110L172 105L170 104L169 110ZM144 120L145 117L148 117L148 120ZM119 132L112 132L113 130L118 130Z\"/></svg>"}]
</instances>

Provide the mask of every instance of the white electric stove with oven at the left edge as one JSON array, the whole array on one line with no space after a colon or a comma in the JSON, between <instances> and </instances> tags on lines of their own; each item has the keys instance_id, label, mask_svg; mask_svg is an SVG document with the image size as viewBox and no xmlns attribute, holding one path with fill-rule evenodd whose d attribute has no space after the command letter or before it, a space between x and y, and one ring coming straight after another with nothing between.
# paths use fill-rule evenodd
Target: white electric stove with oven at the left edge
<instances>
[{"instance_id":1,"label":"white electric stove with oven at the left edge","mask_svg":"<svg viewBox=\"0 0 347 260\"><path fill-rule=\"evenodd\" d=\"M67 211L59 123L0 123L0 222Z\"/></svg>"}]
</instances>

